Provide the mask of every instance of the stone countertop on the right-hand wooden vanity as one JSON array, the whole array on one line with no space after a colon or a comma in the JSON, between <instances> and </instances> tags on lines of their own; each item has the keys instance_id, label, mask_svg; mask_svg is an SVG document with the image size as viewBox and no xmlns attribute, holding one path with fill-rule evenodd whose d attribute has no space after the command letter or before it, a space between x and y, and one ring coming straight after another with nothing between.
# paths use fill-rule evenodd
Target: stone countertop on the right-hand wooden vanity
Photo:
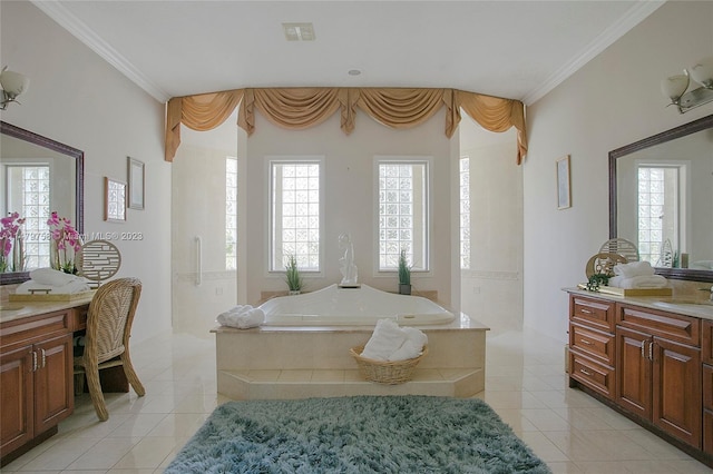
<instances>
[{"instance_id":1,"label":"stone countertop on the right-hand wooden vanity","mask_svg":"<svg viewBox=\"0 0 713 474\"><path fill-rule=\"evenodd\" d=\"M617 296L598 292L587 292L580 288L563 288L565 292L582 296L607 299L618 303L628 303L649 309L658 309L670 313L676 313L685 316L693 316L701 319L713 320L713 302L707 299L710 294L701 292L694 296Z\"/></svg>"}]
</instances>

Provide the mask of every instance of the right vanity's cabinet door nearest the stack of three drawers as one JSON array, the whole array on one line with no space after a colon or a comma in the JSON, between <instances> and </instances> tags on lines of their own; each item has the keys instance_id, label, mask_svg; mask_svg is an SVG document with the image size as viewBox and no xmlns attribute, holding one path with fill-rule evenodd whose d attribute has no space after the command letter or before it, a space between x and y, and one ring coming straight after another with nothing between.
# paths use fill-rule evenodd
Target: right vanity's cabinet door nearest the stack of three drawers
<instances>
[{"instance_id":1,"label":"right vanity's cabinet door nearest the stack of three drawers","mask_svg":"<svg viewBox=\"0 0 713 474\"><path fill-rule=\"evenodd\" d=\"M616 402L624 408L651 419L652 337L624 327L616 328Z\"/></svg>"}]
</instances>

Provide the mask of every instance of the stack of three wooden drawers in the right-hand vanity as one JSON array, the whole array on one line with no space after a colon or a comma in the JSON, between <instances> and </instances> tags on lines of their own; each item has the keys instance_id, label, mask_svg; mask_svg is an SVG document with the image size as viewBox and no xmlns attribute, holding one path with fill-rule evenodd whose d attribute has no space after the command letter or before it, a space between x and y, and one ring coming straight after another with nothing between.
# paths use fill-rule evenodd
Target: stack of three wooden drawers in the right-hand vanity
<instances>
[{"instance_id":1,"label":"stack of three wooden drawers in the right-hand vanity","mask_svg":"<svg viewBox=\"0 0 713 474\"><path fill-rule=\"evenodd\" d=\"M614 313L612 302L569 299L569 377L609 399L616 386Z\"/></svg>"}]
</instances>

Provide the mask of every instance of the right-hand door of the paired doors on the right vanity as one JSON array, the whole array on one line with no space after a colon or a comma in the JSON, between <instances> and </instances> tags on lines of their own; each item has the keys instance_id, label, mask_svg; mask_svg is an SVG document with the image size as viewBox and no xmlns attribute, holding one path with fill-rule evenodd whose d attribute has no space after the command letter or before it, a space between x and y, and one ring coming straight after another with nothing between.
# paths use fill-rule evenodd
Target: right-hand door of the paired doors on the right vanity
<instances>
[{"instance_id":1,"label":"right-hand door of the paired doors on the right vanity","mask_svg":"<svg viewBox=\"0 0 713 474\"><path fill-rule=\"evenodd\" d=\"M701 447L701 350L654 338L652 421Z\"/></svg>"}]
</instances>

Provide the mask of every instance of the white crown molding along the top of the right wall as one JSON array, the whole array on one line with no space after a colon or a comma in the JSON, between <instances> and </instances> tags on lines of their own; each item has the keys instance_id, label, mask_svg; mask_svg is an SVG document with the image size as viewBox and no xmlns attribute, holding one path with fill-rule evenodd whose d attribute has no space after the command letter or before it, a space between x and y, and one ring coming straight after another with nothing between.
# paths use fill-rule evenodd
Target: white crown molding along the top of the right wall
<instances>
[{"instance_id":1,"label":"white crown molding along the top of the right wall","mask_svg":"<svg viewBox=\"0 0 713 474\"><path fill-rule=\"evenodd\" d=\"M530 106L545 97L549 91L564 82L569 76L577 72L584 65L593 60L612 43L626 34L626 32L656 11L656 9L665 2L666 0L635 2L624 17L604 30L604 32L602 32L602 34L592 41L584 50L555 71L555 73L549 76L545 82L527 92L522 98L522 102L526 106Z\"/></svg>"}]
</instances>

